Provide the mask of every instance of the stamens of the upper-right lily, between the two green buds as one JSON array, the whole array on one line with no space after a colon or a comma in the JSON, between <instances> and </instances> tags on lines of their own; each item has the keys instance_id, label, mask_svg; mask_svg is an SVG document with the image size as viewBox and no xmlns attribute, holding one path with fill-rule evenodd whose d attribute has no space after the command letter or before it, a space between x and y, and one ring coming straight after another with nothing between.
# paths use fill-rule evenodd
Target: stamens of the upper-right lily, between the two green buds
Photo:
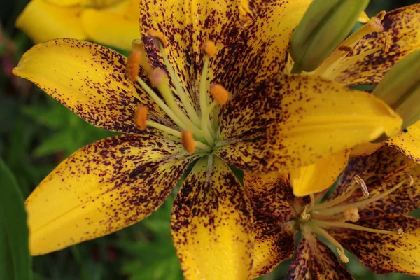
<instances>
[{"instance_id":1,"label":"stamens of the upper-right lily, between the two green buds","mask_svg":"<svg viewBox=\"0 0 420 280\"><path fill-rule=\"evenodd\" d=\"M391 46L391 37L384 32L384 27L381 25L382 20L384 19L386 12L382 11L370 19L363 27L360 27L356 32L351 34L349 38L346 38L341 45L332 52L332 54L325 59L325 61L318 66L315 71L312 71L311 75L322 76L324 78L335 79L339 76L342 71L345 71L349 66L358 62L359 60L367 57L367 55L372 55L374 52L379 52L384 50L388 52ZM378 32L382 34L381 38L384 43L378 47L373 48L372 50L367 50L360 53L359 55L353 55L353 48L360 41L361 38L367 34L372 34Z\"/></svg>"}]
</instances>

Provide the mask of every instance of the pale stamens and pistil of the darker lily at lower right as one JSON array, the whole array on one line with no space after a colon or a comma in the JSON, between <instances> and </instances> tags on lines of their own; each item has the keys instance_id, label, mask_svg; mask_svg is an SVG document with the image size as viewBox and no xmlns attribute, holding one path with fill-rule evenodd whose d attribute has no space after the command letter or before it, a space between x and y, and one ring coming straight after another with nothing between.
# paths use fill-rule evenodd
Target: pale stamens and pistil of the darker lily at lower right
<instances>
[{"instance_id":1,"label":"pale stamens and pistil of the darker lily at lower right","mask_svg":"<svg viewBox=\"0 0 420 280\"><path fill-rule=\"evenodd\" d=\"M407 182L409 183L409 186L412 186L413 178L409 174L407 174L407 176L409 177L408 179L401 181L397 185L393 186L393 188L390 188L379 195L375 195L374 197L369 197L367 186L359 176L355 176L353 178L355 181L353 186L346 190L345 193L332 200L328 200L321 204L315 204L314 195L310 195L311 202L301 211L300 217L297 218L297 224L300 225L300 229L303 232L314 232L327 239L333 246L336 247L339 259L344 263L349 262L349 258L347 258L344 253L344 248L328 233L328 229L346 228L383 235L402 236L404 232L401 228L395 228L395 230L378 230L374 228L366 228L355 223L359 221L360 218L358 212L359 209L363 209L367 206L367 204L381 200ZM353 193L358 188L361 188L363 192L363 199L357 200L356 202L346 202L353 196Z\"/></svg>"}]
</instances>

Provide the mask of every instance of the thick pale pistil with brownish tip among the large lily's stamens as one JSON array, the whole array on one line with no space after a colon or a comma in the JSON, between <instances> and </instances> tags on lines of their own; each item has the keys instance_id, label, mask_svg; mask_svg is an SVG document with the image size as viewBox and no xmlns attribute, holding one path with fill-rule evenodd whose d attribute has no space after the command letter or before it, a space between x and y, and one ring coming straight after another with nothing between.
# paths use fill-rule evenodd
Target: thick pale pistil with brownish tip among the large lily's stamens
<instances>
[{"instance_id":1,"label":"thick pale pistil with brownish tip among the large lily's stamens","mask_svg":"<svg viewBox=\"0 0 420 280\"><path fill-rule=\"evenodd\" d=\"M191 122L191 120L183 113L183 111L181 111L178 104L176 104L174 94L172 94L172 90L169 87L169 81L165 71L160 68L153 69L150 78L151 83L155 87L158 87L158 90L160 91L160 94L162 94L163 99L165 99L165 102L175 113L175 115L182 121L184 125L186 125L186 127L189 127L197 137L202 138L202 131Z\"/></svg>"}]
</instances>

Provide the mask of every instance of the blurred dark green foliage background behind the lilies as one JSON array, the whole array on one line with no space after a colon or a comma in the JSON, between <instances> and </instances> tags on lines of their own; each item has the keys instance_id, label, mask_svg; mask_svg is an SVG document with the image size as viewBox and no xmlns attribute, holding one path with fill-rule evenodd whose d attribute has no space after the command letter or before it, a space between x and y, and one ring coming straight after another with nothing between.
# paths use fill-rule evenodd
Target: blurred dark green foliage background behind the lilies
<instances>
[{"instance_id":1,"label":"blurred dark green foliage background behind the lilies","mask_svg":"<svg viewBox=\"0 0 420 280\"><path fill-rule=\"evenodd\" d=\"M32 45L25 34L14 28L26 3L0 1L0 157L17 178L24 197L73 151L111 135L88 125L11 73ZM412 3L420 1L371 0L367 14ZM169 232L171 207L172 200L168 200L150 218L130 228L35 257L34 279L182 279ZM290 261L283 262L263 279L283 279L288 265ZM356 279L420 279L402 274L375 275L354 258L347 267Z\"/></svg>"}]
</instances>

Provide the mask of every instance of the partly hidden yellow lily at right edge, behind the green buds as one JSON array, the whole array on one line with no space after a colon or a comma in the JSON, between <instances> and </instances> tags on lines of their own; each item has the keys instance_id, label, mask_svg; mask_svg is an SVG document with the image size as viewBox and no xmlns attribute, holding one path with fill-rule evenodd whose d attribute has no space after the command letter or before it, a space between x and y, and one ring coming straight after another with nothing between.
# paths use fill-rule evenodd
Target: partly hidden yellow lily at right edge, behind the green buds
<instances>
[{"instance_id":1,"label":"partly hidden yellow lily at right edge, behind the green buds","mask_svg":"<svg viewBox=\"0 0 420 280\"><path fill-rule=\"evenodd\" d=\"M395 63L420 48L419 14L420 4L379 13L346 38L318 69L304 74L329 78L346 86L377 85ZM291 69L289 62L286 72ZM420 122L386 138L390 139L356 146L349 152L341 151L316 164L293 170L290 179L295 195L329 188L346 167L349 156L369 155L384 144L420 162ZM320 177L319 172L327 176Z\"/></svg>"}]
</instances>

